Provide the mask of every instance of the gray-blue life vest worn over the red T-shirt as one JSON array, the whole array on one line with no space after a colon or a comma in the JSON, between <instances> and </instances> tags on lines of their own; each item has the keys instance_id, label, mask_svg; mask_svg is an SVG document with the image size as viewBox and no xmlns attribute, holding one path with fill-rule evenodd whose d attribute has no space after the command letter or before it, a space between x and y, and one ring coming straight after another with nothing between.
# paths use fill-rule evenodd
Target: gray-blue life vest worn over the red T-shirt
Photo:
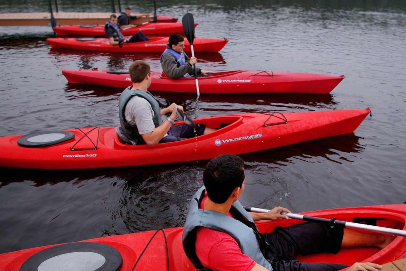
<instances>
[{"instance_id":1,"label":"gray-blue life vest worn over the red T-shirt","mask_svg":"<svg viewBox=\"0 0 406 271\"><path fill-rule=\"evenodd\" d=\"M271 263L261 252L270 245L265 241L263 234L258 231L255 222L248 212L244 210L240 202L237 200L231 206L230 213L234 217L232 218L220 212L200 209L199 204L204 194L205 187L203 186L190 201L188 216L182 234L183 249L194 267L198 270L210 270L201 264L194 245L197 227L203 226L229 234L238 243L243 254L248 255L257 264L272 271Z\"/></svg>"}]
</instances>

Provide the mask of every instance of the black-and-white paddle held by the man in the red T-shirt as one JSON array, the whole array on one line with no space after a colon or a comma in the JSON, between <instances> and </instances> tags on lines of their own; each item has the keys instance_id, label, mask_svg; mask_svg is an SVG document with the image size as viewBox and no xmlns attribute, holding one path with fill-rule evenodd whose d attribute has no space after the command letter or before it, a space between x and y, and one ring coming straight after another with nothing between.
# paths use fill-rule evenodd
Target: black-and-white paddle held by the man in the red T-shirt
<instances>
[{"instance_id":1,"label":"black-and-white paddle held by the man in the red T-shirt","mask_svg":"<svg viewBox=\"0 0 406 271\"><path fill-rule=\"evenodd\" d=\"M248 212L269 212L269 210L255 208L255 207L245 207L244 206L244 209L247 210ZM287 212L281 212L281 215L286 215L287 217L290 217L293 219L327 224L327 225L330 225L330 227L340 226L343 228L354 228L354 229L361 229L361 230L367 230L367 231L382 232L385 234L406 236L406 230L397 230L397 229L386 228L386 227L379 227L379 226L365 225L365 224L348 222L348 221L341 221L341 220L336 220L335 218L327 219L327 218L321 218L321 217L311 217L308 215L291 214L291 213L287 213Z\"/></svg>"}]
</instances>

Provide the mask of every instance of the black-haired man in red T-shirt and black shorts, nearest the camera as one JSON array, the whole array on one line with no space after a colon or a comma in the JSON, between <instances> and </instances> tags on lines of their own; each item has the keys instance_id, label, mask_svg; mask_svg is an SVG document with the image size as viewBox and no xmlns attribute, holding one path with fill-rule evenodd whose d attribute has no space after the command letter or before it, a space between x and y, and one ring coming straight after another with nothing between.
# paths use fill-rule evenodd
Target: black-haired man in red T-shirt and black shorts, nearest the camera
<instances>
[{"instance_id":1,"label":"black-haired man in red T-shirt and black shorts, nearest the camera","mask_svg":"<svg viewBox=\"0 0 406 271\"><path fill-rule=\"evenodd\" d=\"M281 212L290 211L275 207L266 213L246 212L238 201L244 191L244 161L232 154L210 160L203 183L190 202L182 236L184 251L197 269L335 271L348 266L299 262L296 255L324 251L335 254L341 247L382 249L394 239L311 222L276 227L271 233L260 234L254 221L288 219ZM379 264L365 262L355 263L348 270L381 268Z\"/></svg>"}]
</instances>

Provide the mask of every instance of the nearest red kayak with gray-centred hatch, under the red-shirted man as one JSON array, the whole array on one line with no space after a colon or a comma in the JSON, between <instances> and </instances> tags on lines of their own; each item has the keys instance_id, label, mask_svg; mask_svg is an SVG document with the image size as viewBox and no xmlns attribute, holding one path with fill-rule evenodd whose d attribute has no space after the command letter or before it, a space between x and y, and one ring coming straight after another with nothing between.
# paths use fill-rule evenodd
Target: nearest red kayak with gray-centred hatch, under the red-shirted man
<instances>
[{"instance_id":1,"label":"nearest red kayak with gray-centred hatch, under the red-shirted man","mask_svg":"<svg viewBox=\"0 0 406 271\"><path fill-rule=\"evenodd\" d=\"M301 214L328 219L334 217L350 222L369 220L376 221L378 226L387 228L396 226L403 230L406 229L405 204L338 208ZM261 232L271 232L276 226L287 227L297 223L302 223L302 221L296 219L257 221L257 226ZM66 267L67 264L69 267L80 267L86 262L87 271L94 271L102 265L105 268L103 270L112 271L195 271L196 269L184 254L181 244L182 232L183 228L169 228L23 249L0 254L0 270L66 270L62 267ZM333 262L352 265L354 262L385 264L405 257L406 240L402 236L397 236L382 250L376 247L342 248L337 254L298 255L296 259L302 262ZM40 265L43 269L38 268Z\"/></svg>"}]
</instances>

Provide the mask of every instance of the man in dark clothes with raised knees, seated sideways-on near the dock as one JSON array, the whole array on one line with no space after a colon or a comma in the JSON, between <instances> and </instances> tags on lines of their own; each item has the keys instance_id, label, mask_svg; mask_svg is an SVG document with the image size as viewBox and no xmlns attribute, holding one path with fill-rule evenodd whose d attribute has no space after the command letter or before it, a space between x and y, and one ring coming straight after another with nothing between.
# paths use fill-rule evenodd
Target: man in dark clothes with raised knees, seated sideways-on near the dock
<instances>
[{"instance_id":1,"label":"man in dark clothes with raised knees, seated sideways-on near the dock","mask_svg":"<svg viewBox=\"0 0 406 271\"><path fill-rule=\"evenodd\" d=\"M124 42L149 41L149 38L141 31L135 33L130 39L125 38L117 26L117 16L115 14L110 15L110 20L104 25L104 32L110 40L110 44L119 45L120 48L123 47Z\"/></svg>"}]
</instances>

